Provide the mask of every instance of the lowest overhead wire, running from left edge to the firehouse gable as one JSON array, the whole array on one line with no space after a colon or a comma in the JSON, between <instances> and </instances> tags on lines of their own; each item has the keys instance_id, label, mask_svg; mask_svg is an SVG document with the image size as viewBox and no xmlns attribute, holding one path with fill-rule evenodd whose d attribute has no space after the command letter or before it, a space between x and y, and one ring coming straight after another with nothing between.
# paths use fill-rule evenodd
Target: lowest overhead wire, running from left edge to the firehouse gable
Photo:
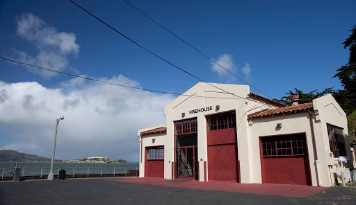
<instances>
[{"instance_id":1,"label":"lowest overhead wire, running from left edge to the firehouse gable","mask_svg":"<svg viewBox=\"0 0 356 205\"><path fill-rule=\"evenodd\" d=\"M94 82L99 82L99 84L117 85L117 86L124 87L124 88L127 88L127 89L136 89L136 90L141 90L141 91L151 91L151 92L154 92L154 93L163 93L163 94L170 94L170 95L175 95L175 96L189 96L189 97L195 97L195 98L219 98L219 97L211 97L211 96L192 96L192 95L188 95L188 94L171 93L171 92L166 92L166 91L157 91L157 90L153 90L153 89L143 89L143 88L140 88L140 87L131 87L131 86L124 85L124 84L118 84L118 83L108 82L108 81L104 81L104 80L97 80L95 78L88 78L88 77L84 77L84 76L81 76L81 75L74 75L74 74L71 74L71 73L65 73L65 72L62 72L62 71L56 71L56 70L52 70L52 69L47 69L47 68L44 68L44 67L41 67L41 66L35 66L33 64L28 64L28 63L25 63L25 62L19 62L17 60L12 60L12 59L9 59L7 57L1 57L0 56L0 59L7 60L7 61L10 61L10 62L15 62L15 63L18 63L18 64L23 64L23 65L26 65L26 66L31 66L31 67L33 67L35 69L41 69L41 70L44 70L44 71L60 73L60 74L63 74L63 75L70 75L72 77L81 78L81 79L84 79L84 80L92 80ZM223 98L223 99L234 99L234 100L237 100L236 98Z\"/></svg>"}]
</instances>

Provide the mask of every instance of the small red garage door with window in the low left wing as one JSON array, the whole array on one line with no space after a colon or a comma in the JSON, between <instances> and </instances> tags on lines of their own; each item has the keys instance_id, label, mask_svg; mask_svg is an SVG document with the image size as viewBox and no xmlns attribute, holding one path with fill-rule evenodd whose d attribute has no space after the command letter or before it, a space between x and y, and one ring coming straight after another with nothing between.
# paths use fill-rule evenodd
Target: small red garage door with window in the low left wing
<instances>
[{"instance_id":1,"label":"small red garage door with window in the low left wing","mask_svg":"<svg viewBox=\"0 0 356 205\"><path fill-rule=\"evenodd\" d=\"M145 177L164 177L164 147L146 148Z\"/></svg>"}]
</instances>

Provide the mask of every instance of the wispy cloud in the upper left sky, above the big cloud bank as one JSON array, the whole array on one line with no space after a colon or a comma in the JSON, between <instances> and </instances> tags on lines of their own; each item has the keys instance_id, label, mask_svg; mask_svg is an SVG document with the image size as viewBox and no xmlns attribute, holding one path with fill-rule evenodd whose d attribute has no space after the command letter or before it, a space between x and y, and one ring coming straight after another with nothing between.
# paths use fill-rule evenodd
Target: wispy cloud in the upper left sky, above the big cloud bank
<instances>
[{"instance_id":1,"label":"wispy cloud in the upper left sky, above the big cloud bank","mask_svg":"<svg viewBox=\"0 0 356 205\"><path fill-rule=\"evenodd\" d=\"M56 28L48 26L40 17L31 13L17 17L17 35L38 48L37 55L30 55L26 51L14 49L17 60L49 67L56 71L63 71L67 65L67 55L77 55L80 46L76 44L74 33L59 32ZM29 69L26 66L27 69ZM29 69L33 73L50 78L56 73Z\"/></svg>"}]
</instances>

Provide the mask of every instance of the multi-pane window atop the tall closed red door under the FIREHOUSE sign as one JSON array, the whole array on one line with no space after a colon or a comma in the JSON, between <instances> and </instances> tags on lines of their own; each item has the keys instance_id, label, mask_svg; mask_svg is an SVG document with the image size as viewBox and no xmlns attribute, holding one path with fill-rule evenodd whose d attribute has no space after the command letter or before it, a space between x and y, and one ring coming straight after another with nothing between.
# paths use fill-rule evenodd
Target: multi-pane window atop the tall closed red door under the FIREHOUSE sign
<instances>
[{"instance_id":1,"label":"multi-pane window atop the tall closed red door under the FIREHOUSE sign","mask_svg":"<svg viewBox=\"0 0 356 205\"><path fill-rule=\"evenodd\" d=\"M235 112L226 112L207 117L208 131L223 130L236 127Z\"/></svg>"}]
</instances>

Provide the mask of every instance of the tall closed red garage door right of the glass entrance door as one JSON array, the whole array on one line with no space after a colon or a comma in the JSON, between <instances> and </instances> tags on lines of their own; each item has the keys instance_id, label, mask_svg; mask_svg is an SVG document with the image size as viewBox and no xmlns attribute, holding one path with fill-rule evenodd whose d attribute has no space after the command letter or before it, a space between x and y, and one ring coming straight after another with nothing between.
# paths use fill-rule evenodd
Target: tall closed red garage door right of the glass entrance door
<instances>
[{"instance_id":1,"label":"tall closed red garage door right of the glass entrance door","mask_svg":"<svg viewBox=\"0 0 356 205\"><path fill-rule=\"evenodd\" d=\"M207 117L208 179L238 181L235 112Z\"/></svg>"}]
</instances>

